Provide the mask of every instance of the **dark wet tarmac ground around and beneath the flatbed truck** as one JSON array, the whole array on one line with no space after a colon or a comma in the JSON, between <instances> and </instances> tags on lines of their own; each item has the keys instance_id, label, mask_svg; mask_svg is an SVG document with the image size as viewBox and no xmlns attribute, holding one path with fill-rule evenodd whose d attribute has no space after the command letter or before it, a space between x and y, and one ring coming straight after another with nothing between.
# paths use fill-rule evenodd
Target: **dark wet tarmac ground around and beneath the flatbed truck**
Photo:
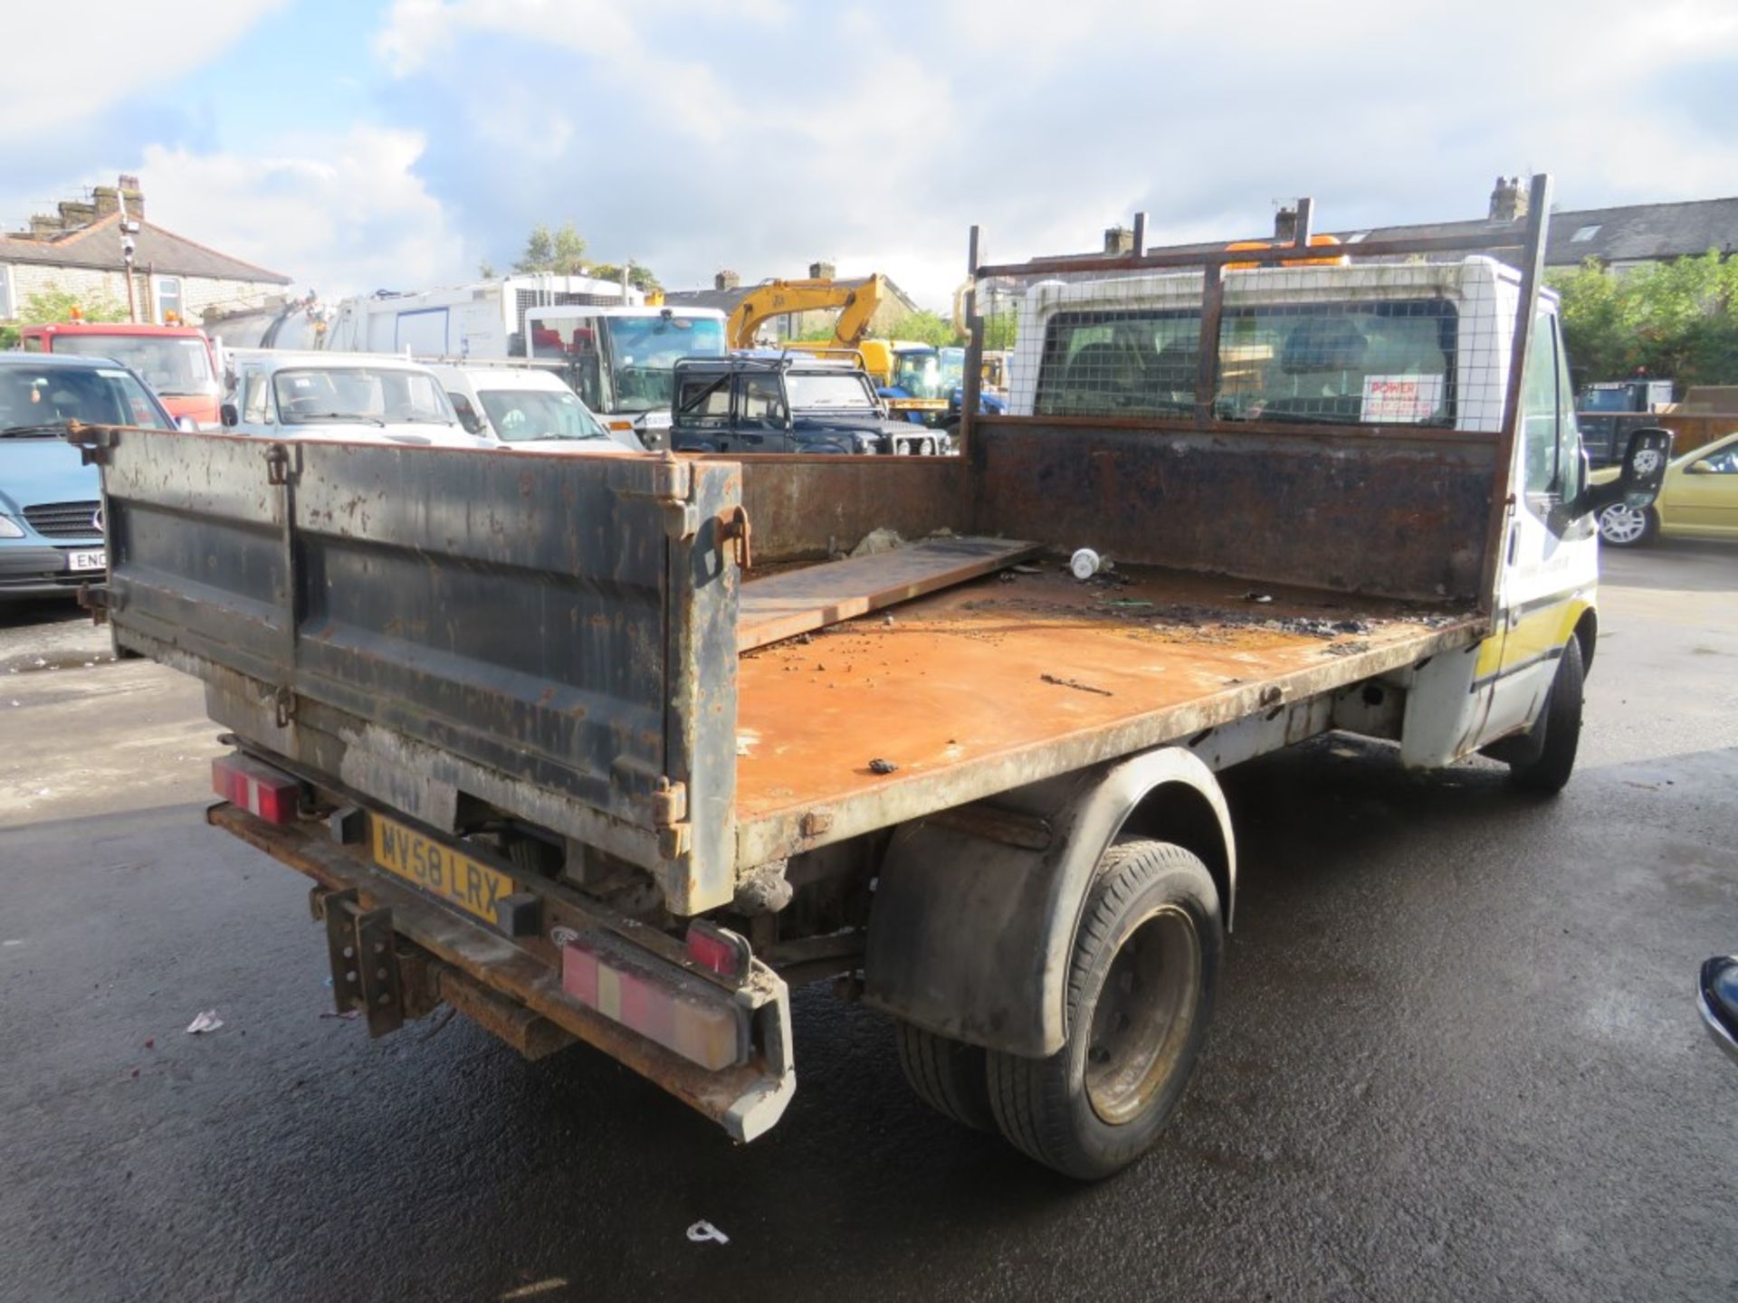
<instances>
[{"instance_id":1,"label":"dark wet tarmac ground around and beneath the flatbed truck","mask_svg":"<svg viewBox=\"0 0 1738 1303\"><path fill-rule=\"evenodd\" d=\"M1231 777L1206 1060L1098 1187L928 1114L824 987L746 1148L584 1048L370 1042L306 883L200 820L198 686L0 613L0 1298L1738 1298L1693 1006L1738 947L1738 549L1606 575L1562 797L1338 738Z\"/></svg>"}]
</instances>

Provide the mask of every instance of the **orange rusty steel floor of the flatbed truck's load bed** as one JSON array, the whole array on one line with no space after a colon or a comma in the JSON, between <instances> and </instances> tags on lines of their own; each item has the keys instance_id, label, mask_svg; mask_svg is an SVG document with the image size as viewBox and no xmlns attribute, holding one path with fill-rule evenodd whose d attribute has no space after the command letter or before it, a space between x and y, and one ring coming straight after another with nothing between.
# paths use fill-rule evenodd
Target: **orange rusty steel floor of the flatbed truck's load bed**
<instances>
[{"instance_id":1,"label":"orange rusty steel floor of the flatbed truck's load bed","mask_svg":"<svg viewBox=\"0 0 1738 1303\"><path fill-rule=\"evenodd\" d=\"M1036 572L744 653L739 863L1189 738L1486 629L1463 610L1145 566L1086 584L1053 558Z\"/></svg>"}]
</instances>

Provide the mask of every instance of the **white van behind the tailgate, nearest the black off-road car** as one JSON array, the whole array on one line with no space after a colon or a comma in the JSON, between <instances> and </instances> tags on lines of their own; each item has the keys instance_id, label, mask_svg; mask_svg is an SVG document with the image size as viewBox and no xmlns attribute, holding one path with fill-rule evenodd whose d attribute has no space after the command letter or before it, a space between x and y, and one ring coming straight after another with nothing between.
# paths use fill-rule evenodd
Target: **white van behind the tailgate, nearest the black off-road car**
<instances>
[{"instance_id":1,"label":"white van behind the tailgate, nearest the black off-road car","mask_svg":"<svg viewBox=\"0 0 1738 1303\"><path fill-rule=\"evenodd\" d=\"M434 365L471 434L527 452L645 452L631 429L603 427L567 382L528 365Z\"/></svg>"}]
</instances>

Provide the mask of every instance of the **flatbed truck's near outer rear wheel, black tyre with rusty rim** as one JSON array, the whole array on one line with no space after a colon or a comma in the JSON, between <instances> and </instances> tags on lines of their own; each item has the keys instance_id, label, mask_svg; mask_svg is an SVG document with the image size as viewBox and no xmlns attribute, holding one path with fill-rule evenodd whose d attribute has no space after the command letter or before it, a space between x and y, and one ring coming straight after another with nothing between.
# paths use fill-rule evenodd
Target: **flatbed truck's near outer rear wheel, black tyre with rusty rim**
<instances>
[{"instance_id":1,"label":"flatbed truck's near outer rear wheel, black tyre with rusty rim","mask_svg":"<svg viewBox=\"0 0 1738 1303\"><path fill-rule=\"evenodd\" d=\"M1083 1181L1145 1154L1201 1058L1222 952L1206 865L1163 841L1114 843L1074 936L1065 1044L985 1056L1003 1136Z\"/></svg>"}]
</instances>

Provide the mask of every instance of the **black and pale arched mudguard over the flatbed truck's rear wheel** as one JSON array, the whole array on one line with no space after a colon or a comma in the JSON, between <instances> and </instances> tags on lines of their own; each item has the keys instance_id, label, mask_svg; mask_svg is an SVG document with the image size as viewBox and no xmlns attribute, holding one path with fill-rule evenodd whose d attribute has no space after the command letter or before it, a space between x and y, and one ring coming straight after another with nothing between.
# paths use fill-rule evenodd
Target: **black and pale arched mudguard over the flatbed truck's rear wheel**
<instances>
[{"instance_id":1,"label":"black and pale arched mudguard over the flatbed truck's rear wheel","mask_svg":"<svg viewBox=\"0 0 1738 1303\"><path fill-rule=\"evenodd\" d=\"M869 919L864 1001L970 1044L1053 1055L1086 891L1124 827L1199 855L1229 924L1224 792L1197 756L1164 747L902 825Z\"/></svg>"}]
</instances>

